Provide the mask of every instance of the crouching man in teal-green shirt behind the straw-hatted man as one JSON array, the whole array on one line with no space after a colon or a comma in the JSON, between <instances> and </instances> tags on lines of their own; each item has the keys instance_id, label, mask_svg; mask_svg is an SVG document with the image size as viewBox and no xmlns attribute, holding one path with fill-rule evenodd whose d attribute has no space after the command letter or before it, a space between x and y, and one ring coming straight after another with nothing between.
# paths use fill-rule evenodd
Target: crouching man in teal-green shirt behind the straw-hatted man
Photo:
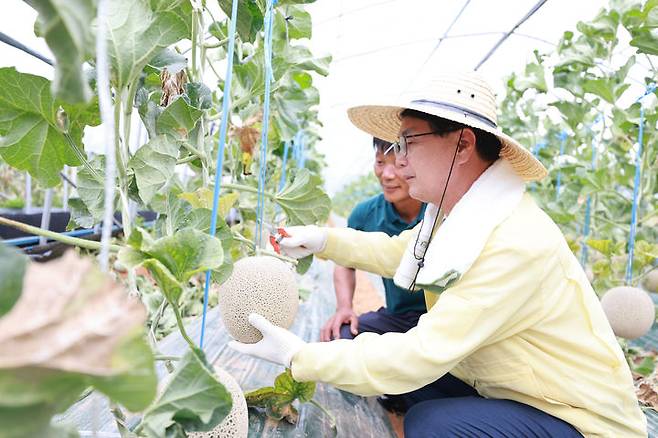
<instances>
[{"instance_id":1,"label":"crouching man in teal-green shirt behind the straw-hatted man","mask_svg":"<svg viewBox=\"0 0 658 438\"><path fill-rule=\"evenodd\" d=\"M347 226L359 231L381 231L397 236L420 222L425 205L409 196L409 185L400 178L395 167L391 143L373 137L373 147L373 170L382 193L358 204L347 219ZM396 286L391 278L382 277L382 282L386 307L357 316L352 308L356 272L352 268L336 265L336 313L322 327L320 340L352 339L363 332L404 333L414 327L418 318L427 311L423 295L412 294Z\"/></svg>"}]
</instances>

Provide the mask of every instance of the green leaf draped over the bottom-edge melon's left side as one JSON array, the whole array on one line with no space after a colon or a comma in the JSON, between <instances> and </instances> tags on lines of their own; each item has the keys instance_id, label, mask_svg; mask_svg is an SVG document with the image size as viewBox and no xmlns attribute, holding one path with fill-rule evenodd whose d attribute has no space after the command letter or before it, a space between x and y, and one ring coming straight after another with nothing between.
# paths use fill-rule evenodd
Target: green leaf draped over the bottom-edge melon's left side
<instances>
[{"instance_id":1,"label":"green leaf draped over the bottom-edge melon's left side","mask_svg":"<svg viewBox=\"0 0 658 438\"><path fill-rule=\"evenodd\" d=\"M193 349L178 362L138 429L154 438L170 436L167 431L175 423L185 432L209 431L224 420L231 407L231 395L215 376L203 351Z\"/></svg>"}]
</instances>

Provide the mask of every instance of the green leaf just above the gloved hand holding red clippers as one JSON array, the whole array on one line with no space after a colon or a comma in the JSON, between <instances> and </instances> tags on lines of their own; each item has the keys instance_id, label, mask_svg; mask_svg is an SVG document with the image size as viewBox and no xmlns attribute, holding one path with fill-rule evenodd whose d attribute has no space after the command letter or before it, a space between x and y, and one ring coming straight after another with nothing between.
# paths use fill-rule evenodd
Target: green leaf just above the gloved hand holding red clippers
<instances>
[{"instance_id":1,"label":"green leaf just above the gloved hand holding red clippers","mask_svg":"<svg viewBox=\"0 0 658 438\"><path fill-rule=\"evenodd\" d=\"M321 223L331 211L331 200L321 188L319 176L301 169L295 179L275 197L275 201L288 216L288 225Z\"/></svg>"}]
</instances>

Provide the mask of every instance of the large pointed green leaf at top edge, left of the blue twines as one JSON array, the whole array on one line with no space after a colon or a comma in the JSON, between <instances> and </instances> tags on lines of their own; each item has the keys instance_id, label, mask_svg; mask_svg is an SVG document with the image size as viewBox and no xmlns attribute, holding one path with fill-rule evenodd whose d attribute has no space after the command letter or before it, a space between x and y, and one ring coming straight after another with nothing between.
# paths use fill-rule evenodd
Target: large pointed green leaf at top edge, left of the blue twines
<instances>
[{"instance_id":1,"label":"large pointed green leaf at top edge, left of the blue twines","mask_svg":"<svg viewBox=\"0 0 658 438\"><path fill-rule=\"evenodd\" d=\"M189 0L113 0L109 6L108 52L118 89L136 80L155 54L189 37Z\"/></svg>"}]
</instances>

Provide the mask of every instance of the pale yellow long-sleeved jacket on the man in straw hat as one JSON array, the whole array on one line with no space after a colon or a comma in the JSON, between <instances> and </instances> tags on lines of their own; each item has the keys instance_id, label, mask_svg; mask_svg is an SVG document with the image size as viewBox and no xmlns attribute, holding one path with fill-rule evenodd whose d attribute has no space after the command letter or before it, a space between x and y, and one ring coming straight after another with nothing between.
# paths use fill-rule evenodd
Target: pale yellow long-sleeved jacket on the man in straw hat
<instances>
[{"instance_id":1,"label":"pale yellow long-sleeved jacket on the man in straw hat","mask_svg":"<svg viewBox=\"0 0 658 438\"><path fill-rule=\"evenodd\" d=\"M329 230L318 254L393 277L413 230ZM646 437L624 355L578 261L553 221L524 195L475 263L407 333L309 343L300 381L361 395L400 394L450 372L487 398L516 400L585 436Z\"/></svg>"}]
</instances>

